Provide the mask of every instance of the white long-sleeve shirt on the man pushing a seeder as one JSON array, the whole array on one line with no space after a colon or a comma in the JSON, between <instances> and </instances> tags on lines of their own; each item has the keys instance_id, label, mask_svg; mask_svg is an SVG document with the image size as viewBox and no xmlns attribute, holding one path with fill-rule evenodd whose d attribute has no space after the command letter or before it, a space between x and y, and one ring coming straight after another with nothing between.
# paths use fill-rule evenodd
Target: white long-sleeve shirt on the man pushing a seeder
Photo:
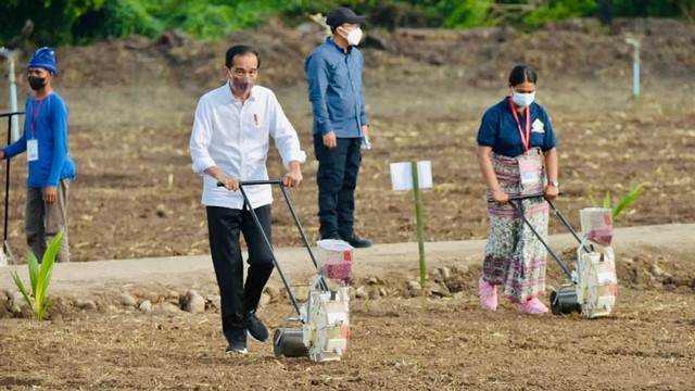
<instances>
[{"instance_id":1,"label":"white long-sleeve shirt on the man pushing a seeder","mask_svg":"<svg viewBox=\"0 0 695 391\"><path fill-rule=\"evenodd\" d=\"M205 169L217 166L240 180L268 179L270 137L286 167L292 161L304 163L306 153L300 148L296 130L270 89L254 86L242 103L227 83L201 97L189 147L193 172L203 177L203 205L243 209L241 191L217 187L217 180ZM273 202L269 185L248 186L244 191L254 209Z\"/></svg>"}]
</instances>

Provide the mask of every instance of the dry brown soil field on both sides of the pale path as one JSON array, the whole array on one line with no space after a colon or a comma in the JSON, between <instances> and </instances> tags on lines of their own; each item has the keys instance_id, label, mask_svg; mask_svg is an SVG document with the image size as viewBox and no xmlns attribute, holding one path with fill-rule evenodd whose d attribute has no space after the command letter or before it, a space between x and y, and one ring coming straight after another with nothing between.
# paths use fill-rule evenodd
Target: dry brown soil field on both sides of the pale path
<instances>
[{"instance_id":1,"label":"dry brown soil field on both sides of the pale path","mask_svg":"<svg viewBox=\"0 0 695 391\"><path fill-rule=\"evenodd\" d=\"M639 101L631 96L628 33L643 42ZM59 48L58 90L71 110L71 153L78 164L70 204L74 261L207 253L188 138L197 100L222 80L222 56L231 43L262 48L260 84L274 87L311 156L302 65L316 37L307 34L270 26L222 42L170 34L156 41ZM620 197L636 184L643 184L643 194L618 226L695 222L692 25L632 21L607 31L572 23L532 35L400 30L379 37L390 51L365 49L374 149L365 152L358 185L362 235L378 243L416 240L413 195L391 191L389 163L429 160L434 188L422 194L427 240L485 238L476 131L484 110L505 96L506 75L519 62L539 70L538 101L559 139L564 195L557 204L574 226L578 211L590 205L589 194ZM21 91L23 99L26 86ZM25 251L24 166L16 160L11 172L9 236L17 254ZM277 159L270 167L271 175L281 174ZM306 164L304 174L291 197L313 241L315 165ZM281 204L275 212L276 245L298 245ZM563 227L553 223L552 230ZM353 339L345 358L320 365L276 358L269 344L252 344L245 357L226 357L214 307L198 315L142 313L124 306L113 286L90 288L88 298L59 298L43 323L12 314L3 299L0 389L690 390L695 257L693 245L678 243L617 248L620 305L599 320L528 317L508 305L485 314L476 298L480 268L466 256L447 262L458 294L430 298L427 312L419 299L403 294L412 270L384 267L357 276L355 286L378 293L352 303ZM560 250L571 255L571 249ZM555 265L549 269L553 285L560 276ZM211 275L177 286L143 282L116 290L165 301L170 291L191 288L214 295L212 281ZM0 298L9 290L0 287ZM288 311L280 299L264 306L263 317L278 327Z\"/></svg>"}]
</instances>

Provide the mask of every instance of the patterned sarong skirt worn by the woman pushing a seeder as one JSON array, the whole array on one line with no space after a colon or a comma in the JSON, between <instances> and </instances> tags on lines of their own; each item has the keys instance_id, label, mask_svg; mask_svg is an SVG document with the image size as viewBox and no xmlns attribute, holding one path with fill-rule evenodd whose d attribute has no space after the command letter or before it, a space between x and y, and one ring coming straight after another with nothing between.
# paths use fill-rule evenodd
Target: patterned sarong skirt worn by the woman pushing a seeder
<instances>
[{"instance_id":1,"label":"patterned sarong skirt worn by the woman pushing a seeder","mask_svg":"<svg viewBox=\"0 0 695 391\"><path fill-rule=\"evenodd\" d=\"M530 153L538 152L530 151ZM542 159L541 156L539 154L539 159ZM542 185L535 189L522 189L517 157L493 153L492 166L502 190L508 194L543 191ZM542 168L538 175L543 176ZM486 195L490 198L490 192ZM546 240L548 205L545 200L523 200L521 205L526 218L543 240ZM502 286L503 297L515 303L523 303L543 295L547 250L541 240L509 204L497 206L489 203L488 215L490 216L490 237L482 263L483 279Z\"/></svg>"}]
</instances>

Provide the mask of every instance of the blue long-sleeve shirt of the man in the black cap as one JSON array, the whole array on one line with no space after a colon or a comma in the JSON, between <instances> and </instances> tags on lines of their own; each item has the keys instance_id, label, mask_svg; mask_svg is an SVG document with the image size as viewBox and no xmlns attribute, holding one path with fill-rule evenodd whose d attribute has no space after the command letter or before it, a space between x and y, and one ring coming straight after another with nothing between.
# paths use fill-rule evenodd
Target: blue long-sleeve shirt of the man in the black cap
<instances>
[{"instance_id":1,"label":"blue long-sleeve shirt of the man in the black cap","mask_svg":"<svg viewBox=\"0 0 695 391\"><path fill-rule=\"evenodd\" d=\"M363 67L357 48L345 52L330 38L308 55L304 71L314 114L313 134L333 130L336 137L362 137L361 127L367 125Z\"/></svg>"}]
</instances>

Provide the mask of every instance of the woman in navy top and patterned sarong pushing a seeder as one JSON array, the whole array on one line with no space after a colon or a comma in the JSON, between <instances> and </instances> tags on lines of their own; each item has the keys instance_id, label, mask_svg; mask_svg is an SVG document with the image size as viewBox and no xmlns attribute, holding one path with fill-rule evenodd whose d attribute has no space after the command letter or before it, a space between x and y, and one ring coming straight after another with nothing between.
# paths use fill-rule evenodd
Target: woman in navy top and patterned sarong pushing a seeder
<instances>
[{"instance_id":1,"label":"woman in navy top and patterned sarong pushing a seeder","mask_svg":"<svg viewBox=\"0 0 695 391\"><path fill-rule=\"evenodd\" d=\"M509 74L510 96L490 108L478 130L478 164L488 186L490 237L485 245L480 302L497 308L497 288L519 311L541 315L547 253L541 239L509 205L510 194L558 194L555 134L543 106L534 102L538 75L528 65ZM548 205L542 198L522 201L526 218L547 237Z\"/></svg>"}]
</instances>

